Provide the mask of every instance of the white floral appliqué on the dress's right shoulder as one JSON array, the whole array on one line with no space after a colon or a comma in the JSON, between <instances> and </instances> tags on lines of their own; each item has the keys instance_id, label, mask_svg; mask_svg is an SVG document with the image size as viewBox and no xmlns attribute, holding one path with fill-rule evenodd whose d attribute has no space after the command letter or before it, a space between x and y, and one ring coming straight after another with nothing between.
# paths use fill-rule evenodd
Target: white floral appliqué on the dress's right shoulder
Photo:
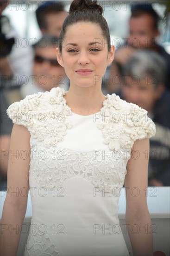
<instances>
[{"instance_id":1,"label":"white floral appliqu\u00e9 on the dress's right shoulder","mask_svg":"<svg viewBox=\"0 0 170 256\"><path fill-rule=\"evenodd\" d=\"M156 133L155 124L145 109L121 100L116 94L107 94L97 127L111 150L130 149L134 141L150 138Z\"/></svg>"}]
</instances>

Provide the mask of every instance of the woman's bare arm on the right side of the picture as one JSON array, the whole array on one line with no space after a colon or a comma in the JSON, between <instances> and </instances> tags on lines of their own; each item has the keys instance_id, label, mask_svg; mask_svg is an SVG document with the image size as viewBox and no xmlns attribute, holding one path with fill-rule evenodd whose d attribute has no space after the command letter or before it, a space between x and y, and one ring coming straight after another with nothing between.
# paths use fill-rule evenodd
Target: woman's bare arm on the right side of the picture
<instances>
[{"instance_id":1,"label":"woman's bare arm on the right side of the picture","mask_svg":"<svg viewBox=\"0 0 170 256\"><path fill-rule=\"evenodd\" d=\"M146 151L147 150L147 151ZM149 139L135 141L125 178L126 225L134 256L153 256L151 218L147 207Z\"/></svg>"}]
</instances>

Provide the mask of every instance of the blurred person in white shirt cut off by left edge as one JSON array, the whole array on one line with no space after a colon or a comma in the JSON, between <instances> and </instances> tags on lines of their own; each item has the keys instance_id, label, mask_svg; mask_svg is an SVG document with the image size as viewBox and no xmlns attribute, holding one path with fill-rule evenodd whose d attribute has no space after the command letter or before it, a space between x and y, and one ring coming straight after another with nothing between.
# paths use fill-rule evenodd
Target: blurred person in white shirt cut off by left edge
<instances>
[{"instance_id":1,"label":"blurred person in white shirt cut off by left edge","mask_svg":"<svg viewBox=\"0 0 170 256\"><path fill-rule=\"evenodd\" d=\"M20 38L2 14L9 5L8 0L0 0L0 189L6 188L9 142L13 122L6 109L19 100L21 77L31 74L32 49L22 47Z\"/></svg>"}]
</instances>

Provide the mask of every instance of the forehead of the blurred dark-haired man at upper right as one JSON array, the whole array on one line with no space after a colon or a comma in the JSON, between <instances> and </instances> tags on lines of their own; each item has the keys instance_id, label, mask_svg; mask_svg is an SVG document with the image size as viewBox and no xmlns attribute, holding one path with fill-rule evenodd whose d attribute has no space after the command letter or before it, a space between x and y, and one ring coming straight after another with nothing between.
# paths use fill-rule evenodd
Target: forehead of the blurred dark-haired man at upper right
<instances>
[{"instance_id":1,"label":"forehead of the blurred dark-haired man at upper right","mask_svg":"<svg viewBox=\"0 0 170 256\"><path fill-rule=\"evenodd\" d=\"M131 17L129 20L130 29L153 29L154 20L148 13L141 14L137 17Z\"/></svg>"}]
</instances>

